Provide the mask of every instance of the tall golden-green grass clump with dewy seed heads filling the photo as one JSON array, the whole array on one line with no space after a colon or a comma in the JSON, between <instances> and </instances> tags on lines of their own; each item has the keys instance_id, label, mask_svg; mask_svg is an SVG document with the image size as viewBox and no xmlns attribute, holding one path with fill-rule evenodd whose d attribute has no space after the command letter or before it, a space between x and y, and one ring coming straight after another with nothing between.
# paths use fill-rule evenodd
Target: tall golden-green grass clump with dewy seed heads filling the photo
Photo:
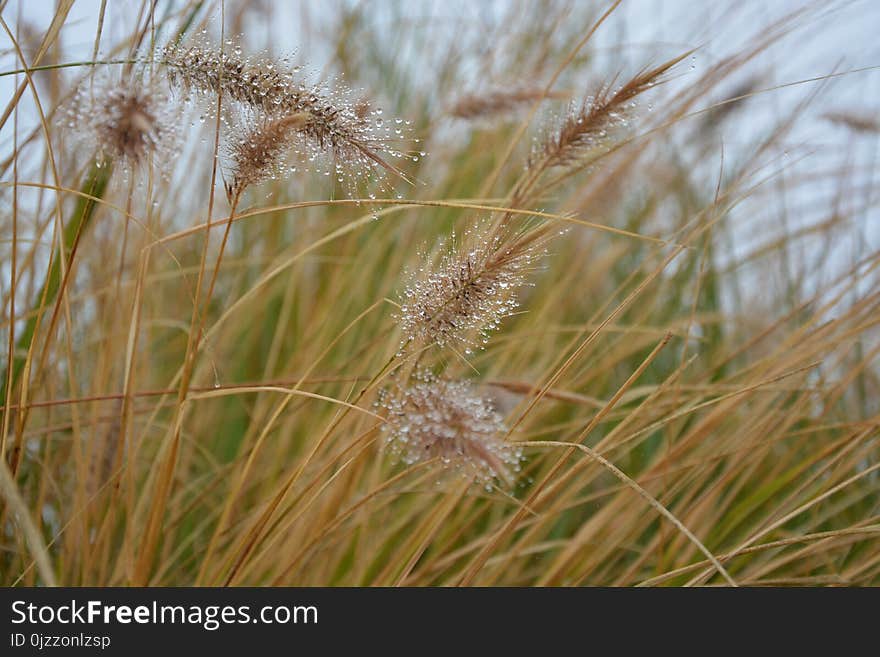
<instances>
[{"instance_id":1,"label":"tall golden-green grass clump with dewy seed heads filling the photo","mask_svg":"<svg viewBox=\"0 0 880 657\"><path fill-rule=\"evenodd\" d=\"M845 8L14 4L3 584L880 584Z\"/></svg>"}]
</instances>

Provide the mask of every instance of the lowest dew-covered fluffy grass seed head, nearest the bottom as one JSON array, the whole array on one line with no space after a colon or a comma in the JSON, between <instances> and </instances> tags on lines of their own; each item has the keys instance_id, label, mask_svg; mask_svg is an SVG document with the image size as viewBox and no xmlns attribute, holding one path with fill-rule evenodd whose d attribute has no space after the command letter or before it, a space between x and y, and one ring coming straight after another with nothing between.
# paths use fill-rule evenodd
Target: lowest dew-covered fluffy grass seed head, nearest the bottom
<instances>
[{"instance_id":1,"label":"lowest dew-covered fluffy grass seed head, nearest the bottom","mask_svg":"<svg viewBox=\"0 0 880 657\"><path fill-rule=\"evenodd\" d=\"M409 387L384 391L382 431L389 449L406 464L433 458L461 474L491 484L511 482L522 451L506 442L503 418L467 381L440 379L421 371Z\"/></svg>"}]
</instances>

